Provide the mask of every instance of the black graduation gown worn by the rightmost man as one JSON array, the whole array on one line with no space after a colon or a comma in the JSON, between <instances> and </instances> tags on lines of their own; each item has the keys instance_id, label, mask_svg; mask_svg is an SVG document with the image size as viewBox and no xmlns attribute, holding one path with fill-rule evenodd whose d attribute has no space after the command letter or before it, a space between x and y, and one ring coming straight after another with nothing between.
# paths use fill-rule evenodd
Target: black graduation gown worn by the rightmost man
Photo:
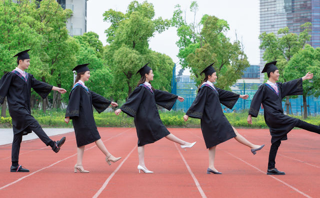
<instances>
[{"instance_id":1,"label":"black graduation gown worn by the rightmost man","mask_svg":"<svg viewBox=\"0 0 320 198\"><path fill-rule=\"evenodd\" d=\"M264 120L270 129L271 143L278 140L287 140L286 134L293 129L298 119L283 114L282 99L285 96L301 95L303 93L302 78L285 83L276 83L278 93L271 86L262 84L254 94L249 115L257 117L262 103Z\"/></svg>"}]
</instances>

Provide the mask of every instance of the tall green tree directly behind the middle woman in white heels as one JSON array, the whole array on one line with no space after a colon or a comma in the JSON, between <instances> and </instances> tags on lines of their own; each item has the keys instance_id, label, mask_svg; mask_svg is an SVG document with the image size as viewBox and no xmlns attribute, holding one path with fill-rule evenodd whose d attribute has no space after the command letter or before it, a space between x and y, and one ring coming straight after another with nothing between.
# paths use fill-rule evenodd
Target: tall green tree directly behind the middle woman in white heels
<instances>
[{"instance_id":1,"label":"tall green tree directly behind the middle woman in white heels","mask_svg":"<svg viewBox=\"0 0 320 198\"><path fill-rule=\"evenodd\" d=\"M155 75L154 85L169 90L173 62L168 56L150 50L148 41L154 33L166 30L170 20L154 18L153 5L147 1L132 1L126 13L109 9L103 16L104 21L111 23L105 30L109 45L104 47L104 60L113 74L112 98L127 98L140 78L136 71L149 61Z\"/></svg>"}]
</instances>

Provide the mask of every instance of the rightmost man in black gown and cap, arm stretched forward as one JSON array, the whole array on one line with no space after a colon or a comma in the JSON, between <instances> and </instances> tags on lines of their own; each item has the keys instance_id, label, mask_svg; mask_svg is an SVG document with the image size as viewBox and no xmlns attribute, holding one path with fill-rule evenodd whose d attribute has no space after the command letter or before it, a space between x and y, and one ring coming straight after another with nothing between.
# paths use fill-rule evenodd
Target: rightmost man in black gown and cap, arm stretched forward
<instances>
[{"instance_id":1,"label":"rightmost man in black gown and cap, arm stretched forward","mask_svg":"<svg viewBox=\"0 0 320 198\"><path fill-rule=\"evenodd\" d=\"M284 115L282 109L282 99L285 96L303 94L302 81L312 79L313 74L308 72L302 78L285 83L276 83L280 74L275 64L276 61L266 63L261 72L267 73L268 81L260 85L257 92L254 94L247 122L248 124L252 124L252 117L257 117L262 104L264 108L264 121L269 127L271 134L267 175L285 175L284 172L278 171L275 168L275 156L281 140L287 140L286 134L289 133L293 127L299 127L317 134L320 133L320 127Z\"/></svg>"}]
</instances>

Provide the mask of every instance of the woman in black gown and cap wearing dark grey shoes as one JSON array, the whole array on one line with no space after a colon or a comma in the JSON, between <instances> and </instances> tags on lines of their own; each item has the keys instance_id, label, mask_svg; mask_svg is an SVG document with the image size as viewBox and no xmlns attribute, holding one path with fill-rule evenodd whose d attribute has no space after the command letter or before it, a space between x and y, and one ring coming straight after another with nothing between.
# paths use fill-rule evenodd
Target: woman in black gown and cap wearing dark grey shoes
<instances>
[{"instance_id":1,"label":"woman in black gown and cap wearing dark grey shoes","mask_svg":"<svg viewBox=\"0 0 320 198\"><path fill-rule=\"evenodd\" d=\"M223 114L221 104L232 109L238 98L247 99L248 95L239 95L230 91L219 89L213 85L216 81L216 73L212 67L214 63L207 66L201 73L205 78L198 90L195 100L183 116L184 121L188 117L201 119L201 131L205 146L209 152L209 167L207 174L221 174L214 168L214 157L216 145L234 138L239 143L249 147L253 155L262 149L264 145L254 145L242 137L233 128ZM201 74L200 73L200 74Z\"/></svg>"}]
</instances>

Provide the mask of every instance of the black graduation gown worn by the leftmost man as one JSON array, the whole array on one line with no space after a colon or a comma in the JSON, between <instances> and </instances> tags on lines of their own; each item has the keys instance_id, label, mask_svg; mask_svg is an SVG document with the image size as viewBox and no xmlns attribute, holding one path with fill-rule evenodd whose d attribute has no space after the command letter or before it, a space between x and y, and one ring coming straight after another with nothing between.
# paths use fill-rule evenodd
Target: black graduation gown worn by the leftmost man
<instances>
[{"instance_id":1,"label":"black graduation gown worn by the leftmost man","mask_svg":"<svg viewBox=\"0 0 320 198\"><path fill-rule=\"evenodd\" d=\"M52 90L52 85L36 80L32 74L25 72L25 78L13 70L4 74L0 80L0 103L6 96L9 114L12 118L13 134L23 132L27 135L32 131L28 126L35 121L31 116L31 88L43 99Z\"/></svg>"}]
</instances>

